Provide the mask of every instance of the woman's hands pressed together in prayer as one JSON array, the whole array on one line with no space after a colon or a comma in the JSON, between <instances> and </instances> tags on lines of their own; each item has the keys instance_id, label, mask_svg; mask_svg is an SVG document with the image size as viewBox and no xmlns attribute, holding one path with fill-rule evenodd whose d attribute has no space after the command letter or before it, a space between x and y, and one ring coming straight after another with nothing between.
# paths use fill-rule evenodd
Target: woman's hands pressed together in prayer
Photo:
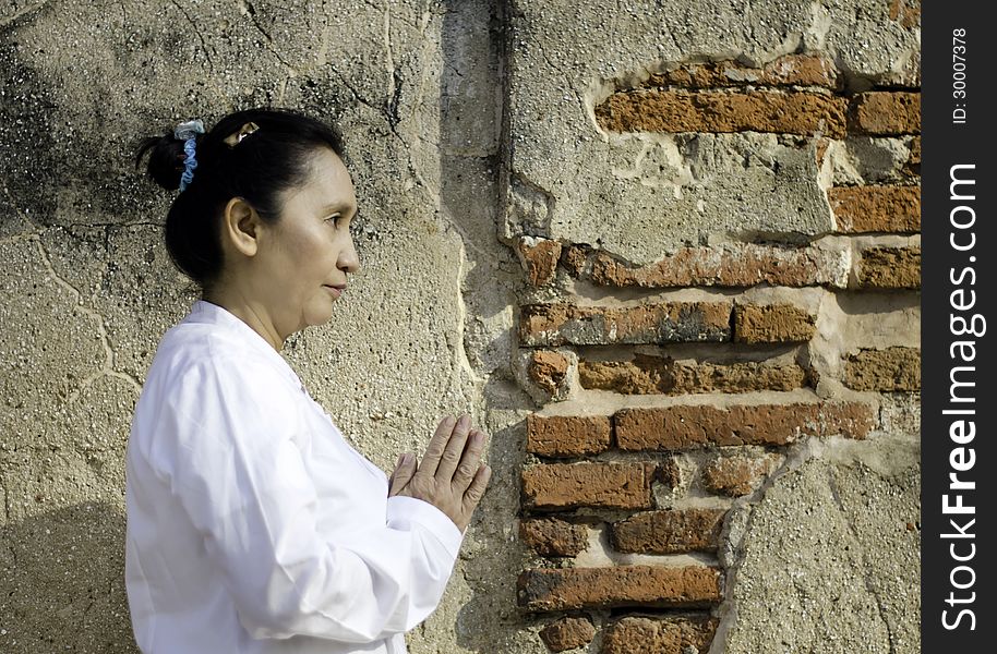
<instances>
[{"instance_id":1,"label":"woman's hands pressed together in prayer","mask_svg":"<svg viewBox=\"0 0 997 654\"><path fill-rule=\"evenodd\" d=\"M422 462L405 452L388 481L388 497L406 495L430 502L463 532L484 495L492 469L481 463L488 436L471 420L447 415L425 448Z\"/></svg>"}]
</instances>

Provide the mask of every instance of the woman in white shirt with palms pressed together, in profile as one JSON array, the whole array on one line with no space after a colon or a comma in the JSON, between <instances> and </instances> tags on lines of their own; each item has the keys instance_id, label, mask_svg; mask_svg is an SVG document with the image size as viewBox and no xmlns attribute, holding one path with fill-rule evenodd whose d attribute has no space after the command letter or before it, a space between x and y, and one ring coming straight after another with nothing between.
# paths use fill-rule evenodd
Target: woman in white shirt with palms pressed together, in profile
<instances>
[{"instance_id":1,"label":"woman in white shirt with palms pressed together, in profile","mask_svg":"<svg viewBox=\"0 0 997 654\"><path fill-rule=\"evenodd\" d=\"M360 269L334 129L285 110L179 125L139 148L180 189L175 263L202 288L163 337L128 444L125 585L146 654L405 652L491 475L445 417L391 479L279 354Z\"/></svg>"}]
</instances>

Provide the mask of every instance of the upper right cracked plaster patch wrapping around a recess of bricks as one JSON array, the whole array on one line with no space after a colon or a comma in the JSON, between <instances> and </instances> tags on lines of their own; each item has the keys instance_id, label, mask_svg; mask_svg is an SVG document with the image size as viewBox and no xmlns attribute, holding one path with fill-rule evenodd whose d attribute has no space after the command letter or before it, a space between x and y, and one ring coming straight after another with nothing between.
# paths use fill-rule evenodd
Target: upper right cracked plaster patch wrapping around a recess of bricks
<instances>
[{"instance_id":1,"label":"upper right cracked plaster patch wrapping around a recess of bricks","mask_svg":"<svg viewBox=\"0 0 997 654\"><path fill-rule=\"evenodd\" d=\"M615 83L687 61L760 66L824 52L850 90L905 80L920 62L920 32L891 19L899 4L514 1L505 235L589 243L648 264L682 245L753 235L801 241L830 231L813 152L795 140L610 133L593 108ZM521 189L529 190L525 199ZM542 220L529 209L538 204Z\"/></svg>"}]
</instances>

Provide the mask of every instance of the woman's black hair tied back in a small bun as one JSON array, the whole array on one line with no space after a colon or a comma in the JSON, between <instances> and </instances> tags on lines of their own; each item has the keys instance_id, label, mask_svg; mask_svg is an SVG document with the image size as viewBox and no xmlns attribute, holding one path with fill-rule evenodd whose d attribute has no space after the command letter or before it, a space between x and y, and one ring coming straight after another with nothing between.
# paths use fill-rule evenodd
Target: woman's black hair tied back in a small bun
<instances>
[{"instance_id":1,"label":"woman's black hair tied back in a small bun","mask_svg":"<svg viewBox=\"0 0 997 654\"><path fill-rule=\"evenodd\" d=\"M247 123L259 128L233 142ZM143 140L135 154L135 169L149 152L148 175L167 191L180 187L184 170L184 142L170 129L163 136ZM232 197L247 201L266 222L280 218L279 194L304 183L311 157L328 147L344 157L343 137L326 124L289 109L248 109L229 113L206 134L196 135L197 167L193 180L180 192L166 216L164 235L170 257L202 289L221 272L219 239L221 211Z\"/></svg>"}]
</instances>

